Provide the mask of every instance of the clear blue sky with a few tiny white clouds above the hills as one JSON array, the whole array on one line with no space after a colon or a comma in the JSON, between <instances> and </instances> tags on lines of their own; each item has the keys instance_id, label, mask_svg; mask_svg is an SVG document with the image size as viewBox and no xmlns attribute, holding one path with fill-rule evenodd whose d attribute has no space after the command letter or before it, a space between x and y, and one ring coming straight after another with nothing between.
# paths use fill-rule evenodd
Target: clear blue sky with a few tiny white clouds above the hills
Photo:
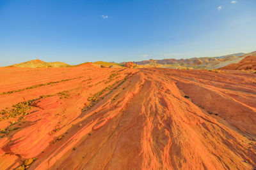
<instances>
[{"instance_id":1,"label":"clear blue sky with a few tiny white clouds above the hills","mask_svg":"<svg viewBox=\"0 0 256 170\"><path fill-rule=\"evenodd\" d=\"M255 50L255 0L0 0L0 66Z\"/></svg>"}]
</instances>

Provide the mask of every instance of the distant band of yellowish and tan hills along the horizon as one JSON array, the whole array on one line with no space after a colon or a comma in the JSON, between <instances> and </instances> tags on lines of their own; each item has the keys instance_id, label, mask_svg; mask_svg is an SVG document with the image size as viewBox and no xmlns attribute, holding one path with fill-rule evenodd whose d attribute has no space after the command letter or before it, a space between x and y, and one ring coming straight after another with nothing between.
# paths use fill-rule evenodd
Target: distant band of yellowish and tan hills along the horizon
<instances>
[{"instance_id":1,"label":"distant band of yellowish and tan hills along the horizon","mask_svg":"<svg viewBox=\"0 0 256 170\"><path fill-rule=\"evenodd\" d=\"M229 64L237 64L244 57L248 55L254 55L255 52L252 53L233 53L230 55L223 55L220 57L194 57L191 59L162 59L162 60L142 60L136 61L135 67L169 67L173 69L218 69L220 67L228 66ZM86 62L87 63L87 62ZM115 62L94 62L93 66L124 66L127 62L122 62L117 64ZM79 64L76 66L89 66L88 64ZM8 67L76 67L65 62L44 62L42 60L30 60L28 62L22 62L19 64L13 64ZM234 66L234 65L233 65Z\"/></svg>"}]
</instances>

